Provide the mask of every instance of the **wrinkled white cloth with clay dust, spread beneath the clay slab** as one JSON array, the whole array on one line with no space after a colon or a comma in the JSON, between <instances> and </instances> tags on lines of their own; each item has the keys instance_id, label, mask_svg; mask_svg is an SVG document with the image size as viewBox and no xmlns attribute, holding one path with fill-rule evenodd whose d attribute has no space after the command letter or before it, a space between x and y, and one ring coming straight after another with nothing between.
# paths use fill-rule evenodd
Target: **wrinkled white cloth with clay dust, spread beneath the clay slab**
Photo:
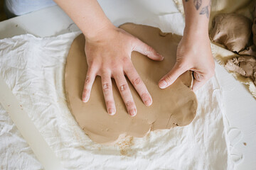
<instances>
[{"instance_id":1,"label":"wrinkled white cloth with clay dust, spread beneath the clay slab","mask_svg":"<svg viewBox=\"0 0 256 170\"><path fill-rule=\"evenodd\" d=\"M1 77L65 169L233 169L215 77L197 91L198 111L190 125L112 146L92 142L68 109L63 83L68 50L78 34L0 40ZM1 169L43 168L2 107L0 164Z\"/></svg>"}]
</instances>

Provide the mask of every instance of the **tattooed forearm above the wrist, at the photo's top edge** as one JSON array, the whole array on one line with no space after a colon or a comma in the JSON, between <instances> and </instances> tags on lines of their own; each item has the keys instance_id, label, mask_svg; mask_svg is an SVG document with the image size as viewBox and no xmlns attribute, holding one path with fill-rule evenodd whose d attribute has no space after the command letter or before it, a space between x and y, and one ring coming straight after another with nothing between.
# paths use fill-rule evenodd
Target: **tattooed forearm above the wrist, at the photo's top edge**
<instances>
[{"instance_id":1,"label":"tattooed forearm above the wrist, at the photo's top edge","mask_svg":"<svg viewBox=\"0 0 256 170\"><path fill-rule=\"evenodd\" d=\"M185 11L184 35L208 36L210 0L183 0Z\"/></svg>"}]
</instances>

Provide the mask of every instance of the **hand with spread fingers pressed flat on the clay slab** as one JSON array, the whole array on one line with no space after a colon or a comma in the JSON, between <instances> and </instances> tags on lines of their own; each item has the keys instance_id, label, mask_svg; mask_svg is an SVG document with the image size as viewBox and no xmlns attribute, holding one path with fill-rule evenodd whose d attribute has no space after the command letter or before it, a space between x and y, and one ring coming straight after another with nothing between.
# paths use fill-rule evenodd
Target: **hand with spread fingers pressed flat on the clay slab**
<instances>
[{"instance_id":1,"label":"hand with spread fingers pressed flat on the clay slab","mask_svg":"<svg viewBox=\"0 0 256 170\"><path fill-rule=\"evenodd\" d=\"M93 38L85 40L85 55L87 57L87 76L82 92L82 101L87 102L96 76L102 79L102 90L105 97L107 112L110 115L116 113L112 92L113 78L124 100L129 115L136 115L137 108L132 98L131 91L125 79L126 75L137 90L146 106L150 106L152 98L142 79L139 77L131 60L132 51L146 55L152 60L164 59L152 47L135 38L126 31L108 26L100 30Z\"/></svg>"}]
</instances>

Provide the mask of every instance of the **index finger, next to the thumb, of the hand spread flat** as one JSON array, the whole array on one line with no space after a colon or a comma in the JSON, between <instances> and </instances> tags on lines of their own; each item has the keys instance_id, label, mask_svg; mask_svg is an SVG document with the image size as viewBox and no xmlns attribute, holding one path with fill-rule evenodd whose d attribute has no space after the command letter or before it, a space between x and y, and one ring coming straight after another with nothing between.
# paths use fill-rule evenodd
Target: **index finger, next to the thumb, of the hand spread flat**
<instances>
[{"instance_id":1,"label":"index finger, next to the thumb, of the hand spread flat","mask_svg":"<svg viewBox=\"0 0 256 170\"><path fill-rule=\"evenodd\" d=\"M142 98L142 101L146 106L151 106L152 98L149 94L149 91L146 89L146 85L142 81L141 77L134 68L132 62L124 69L124 72L127 74L127 77L132 82L132 85L137 90L139 96Z\"/></svg>"}]
</instances>

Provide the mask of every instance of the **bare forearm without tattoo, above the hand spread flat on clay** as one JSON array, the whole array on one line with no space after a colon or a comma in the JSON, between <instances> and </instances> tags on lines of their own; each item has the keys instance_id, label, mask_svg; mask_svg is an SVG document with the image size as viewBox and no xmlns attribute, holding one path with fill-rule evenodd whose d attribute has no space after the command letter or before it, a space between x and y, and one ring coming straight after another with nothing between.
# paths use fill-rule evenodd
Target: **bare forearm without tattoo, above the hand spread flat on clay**
<instances>
[{"instance_id":1,"label":"bare forearm without tattoo, above the hand spread flat on clay","mask_svg":"<svg viewBox=\"0 0 256 170\"><path fill-rule=\"evenodd\" d=\"M97 0L55 0L82 30L86 38L94 38L100 30L112 27Z\"/></svg>"}]
</instances>

